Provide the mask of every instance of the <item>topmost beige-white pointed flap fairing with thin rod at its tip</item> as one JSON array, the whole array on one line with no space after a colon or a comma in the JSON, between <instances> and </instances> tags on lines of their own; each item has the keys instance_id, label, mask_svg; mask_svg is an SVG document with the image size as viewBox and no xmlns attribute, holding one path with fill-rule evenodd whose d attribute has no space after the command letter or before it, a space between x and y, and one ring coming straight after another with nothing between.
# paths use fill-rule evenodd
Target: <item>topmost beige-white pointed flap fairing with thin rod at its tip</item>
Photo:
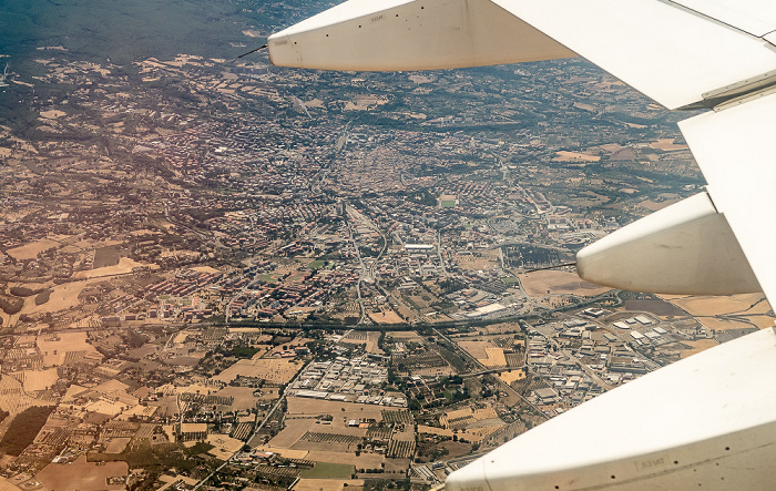
<instances>
[{"instance_id":1,"label":"topmost beige-white pointed flap fairing with thin rod at its tip","mask_svg":"<svg viewBox=\"0 0 776 491\"><path fill-rule=\"evenodd\" d=\"M326 70L433 70L575 55L490 0L348 0L270 35L267 45L275 64Z\"/></svg>"}]
</instances>

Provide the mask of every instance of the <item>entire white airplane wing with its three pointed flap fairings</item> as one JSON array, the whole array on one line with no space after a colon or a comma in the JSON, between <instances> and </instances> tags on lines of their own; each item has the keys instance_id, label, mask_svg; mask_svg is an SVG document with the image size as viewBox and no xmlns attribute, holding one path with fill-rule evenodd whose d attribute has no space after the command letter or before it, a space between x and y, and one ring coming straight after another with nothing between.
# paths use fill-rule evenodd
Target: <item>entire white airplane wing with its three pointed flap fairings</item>
<instances>
[{"instance_id":1,"label":"entire white airplane wing with its three pointed flap fairings","mask_svg":"<svg viewBox=\"0 0 776 491\"><path fill-rule=\"evenodd\" d=\"M273 63L419 70L582 55L668 109L706 181L578 254L623 289L776 301L776 2L349 0L268 40ZM776 330L649 374L449 475L455 491L770 489Z\"/></svg>"}]
</instances>

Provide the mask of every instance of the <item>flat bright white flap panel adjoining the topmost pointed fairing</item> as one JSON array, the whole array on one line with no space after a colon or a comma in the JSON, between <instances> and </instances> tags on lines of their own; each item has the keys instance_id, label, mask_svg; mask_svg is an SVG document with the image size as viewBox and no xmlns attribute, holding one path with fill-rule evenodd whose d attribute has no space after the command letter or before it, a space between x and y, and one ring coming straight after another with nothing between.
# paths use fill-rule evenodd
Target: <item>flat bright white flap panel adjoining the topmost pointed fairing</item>
<instances>
[{"instance_id":1,"label":"flat bright white flap panel adjoining the topmost pointed fairing","mask_svg":"<svg viewBox=\"0 0 776 491\"><path fill-rule=\"evenodd\" d=\"M776 69L773 47L657 0L493 0L668 109Z\"/></svg>"}]
</instances>

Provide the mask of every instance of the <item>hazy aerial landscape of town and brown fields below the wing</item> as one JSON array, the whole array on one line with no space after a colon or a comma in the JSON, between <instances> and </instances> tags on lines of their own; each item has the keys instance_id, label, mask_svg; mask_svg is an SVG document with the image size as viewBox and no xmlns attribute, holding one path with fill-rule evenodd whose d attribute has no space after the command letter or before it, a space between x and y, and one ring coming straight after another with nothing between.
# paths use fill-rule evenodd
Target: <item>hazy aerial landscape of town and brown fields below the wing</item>
<instances>
[{"instance_id":1,"label":"hazy aerial landscape of town and brown fields below the wing","mask_svg":"<svg viewBox=\"0 0 776 491\"><path fill-rule=\"evenodd\" d=\"M585 283L705 184L583 59L274 67L317 0L0 4L0 490L427 490L774 321ZM551 268L553 266L558 266Z\"/></svg>"}]
</instances>

